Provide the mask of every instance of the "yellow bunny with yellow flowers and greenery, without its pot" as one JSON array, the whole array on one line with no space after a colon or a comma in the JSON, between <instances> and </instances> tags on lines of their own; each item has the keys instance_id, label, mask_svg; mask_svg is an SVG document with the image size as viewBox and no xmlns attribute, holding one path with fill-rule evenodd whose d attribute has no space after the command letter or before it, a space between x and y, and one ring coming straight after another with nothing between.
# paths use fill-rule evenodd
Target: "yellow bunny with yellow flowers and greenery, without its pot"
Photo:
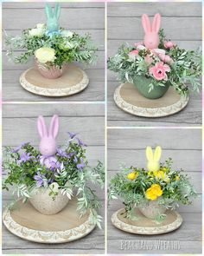
<instances>
[{"instance_id":1,"label":"yellow bunny with yellow flowers and greenery, without its pot","mask_svg":"<svg viewBox=\"0 0 204 256\"><path fill-rule=\"evenodd\" d=\"M109 200L122 200L130 219L134 219L135 207L146 207L150 202L156 201L166 209L175 209L179 203L190 205L192 197L197 195L188 175L182 169L172 167L171 158L163 163L159 162L159 147L156 148L157 156L153 156L150 147L146 150L149 155L147 169L123 166L110 181ZM156 218L163 217L162 215Z\"/></svg>"}]
</instances>

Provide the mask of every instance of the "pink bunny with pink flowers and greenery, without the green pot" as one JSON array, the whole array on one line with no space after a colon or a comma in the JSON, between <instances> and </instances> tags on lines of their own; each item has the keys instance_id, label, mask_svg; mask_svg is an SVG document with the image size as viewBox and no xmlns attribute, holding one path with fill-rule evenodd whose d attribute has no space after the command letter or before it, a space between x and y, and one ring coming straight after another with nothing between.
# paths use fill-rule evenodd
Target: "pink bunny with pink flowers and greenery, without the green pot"
<instances>
[{"instance_id":1,"label":"pink bunny with pink flowers and greenery, without the green pot","mask_svg":"<svg viewBox=\"0 0 204 256\"><path fill-rule=\"evenodd\" d=\"M138 83L150 78L149 93L169 84L180 95L189 89L199 92L201 86L201 50L186 50L166 39L160 30L160 15L152 26L143 15L144 40L134 46L123 44L115 56L108 59L108 69L118 74L120 82ZM189 87L188 84L191 84Z\"/></svg>"}]
</instances>

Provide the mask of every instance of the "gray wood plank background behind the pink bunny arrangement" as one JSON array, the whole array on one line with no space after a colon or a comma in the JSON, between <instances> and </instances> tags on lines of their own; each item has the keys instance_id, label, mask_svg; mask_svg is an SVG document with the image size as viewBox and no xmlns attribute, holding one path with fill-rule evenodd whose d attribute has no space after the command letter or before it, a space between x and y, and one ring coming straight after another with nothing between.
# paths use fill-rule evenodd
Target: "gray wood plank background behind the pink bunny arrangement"
<instances>
[{"instance_id":1,"label":"gray wood plank background behind the pink bunny arrangement","mask_svg":"<svg viewBox=\"0 0 204 256\"><path fill-rule=\"evenodd\" d=\"M122 43L143 41L141 16L152 17L159 12L165 35L184 49L201 46L201 3L107 3L107 56L114 56ZM201 125L201 95L191 94L187 108L164 118L142 118L124 113L113 101L119 85L116 75L108 71L109 126L194 126Z\"/></svg>"}]
</instances>

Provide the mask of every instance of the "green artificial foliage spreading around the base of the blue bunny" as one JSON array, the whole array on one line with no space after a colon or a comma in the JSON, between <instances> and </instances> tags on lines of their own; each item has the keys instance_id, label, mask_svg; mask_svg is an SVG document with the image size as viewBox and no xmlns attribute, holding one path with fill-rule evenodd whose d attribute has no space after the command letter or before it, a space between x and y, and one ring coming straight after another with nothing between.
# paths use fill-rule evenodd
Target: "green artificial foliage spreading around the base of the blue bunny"
<instances>
[{"instance_id":1,"label":"green artificial foliage spreading around the base of the blue bunny","mask_svg":"<svg viewBox=\"0 0 204 256\"><path fill-rule=\"evenodd\" d=\"M45 24L39 24L41 28L23 30L21 36L5 36L5 44L8 47L7 56L15 63L26 63L30 56L35 56L35 51L41 48L54 49L55 65L62 67L69 62L86 62L92 64L96 61L97 48L93 45L90 34L80 36L68 30L61 30L51 33L47 31ZM35 34L31 33L36 30ZM16 56L15 50L22 49L22 54Z\"/></svg>"}]
</instances>

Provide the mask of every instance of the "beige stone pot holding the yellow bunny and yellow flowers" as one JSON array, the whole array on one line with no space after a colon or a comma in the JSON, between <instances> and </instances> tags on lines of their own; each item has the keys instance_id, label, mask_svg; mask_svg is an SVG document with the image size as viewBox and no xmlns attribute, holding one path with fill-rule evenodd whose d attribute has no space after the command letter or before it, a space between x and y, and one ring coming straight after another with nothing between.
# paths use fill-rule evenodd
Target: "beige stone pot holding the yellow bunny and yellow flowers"
<instances>
[{"instance_id":1,"label":"beige stone pot holding the yellow bunny and yellow flowers","mask_svg":"<svg viewBox=\"0 0 204 256\"><path fill-rule=\"evenodd\" d=\"M139 211L149 219L156 219L159 214L166 212L166 207L158 204L158 200L152 200L148 202L148 205L143 207L138 207Z\"/></svg>"}]
</instances>

